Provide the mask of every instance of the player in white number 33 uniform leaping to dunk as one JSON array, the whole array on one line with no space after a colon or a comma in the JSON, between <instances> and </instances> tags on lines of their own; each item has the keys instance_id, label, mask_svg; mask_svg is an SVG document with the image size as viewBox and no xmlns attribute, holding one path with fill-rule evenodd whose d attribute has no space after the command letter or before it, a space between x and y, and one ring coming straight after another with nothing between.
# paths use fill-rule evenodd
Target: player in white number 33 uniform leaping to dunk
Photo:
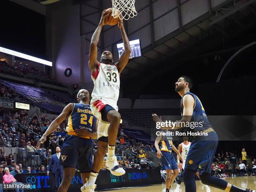
<instances>
[{"instance_id":1,"label":"player in white number 33 uniform leaping to dunk","mask_svg":"<svg viewBox=\"0 0 256 192\"><path fill-rule=\"evenodd\" d=\"M104 156L108 151L106 168L111 174L120 176L125 174L125 170L119 166L115 156L115 141L118 135L118 126L120 124L120 113L118 113L117 101L120 89L120 73L128 63L131 54L131 47L128 37L125 33L123 20L120 20L120 28L124 51L117 63L114 63L113 55L110 51L104 51L101 55L100 62L97 61L97 44L100 38L100 32L106 17L105 11L102 13L100 24L94 32L90 45L89 68L94 82L92 91L91 108L93 114L99 120L98 125L98 149L95 156L90 178L81 191L93 192L96 185L95 181L102 166Z\"/></svg>"}]
</instances>

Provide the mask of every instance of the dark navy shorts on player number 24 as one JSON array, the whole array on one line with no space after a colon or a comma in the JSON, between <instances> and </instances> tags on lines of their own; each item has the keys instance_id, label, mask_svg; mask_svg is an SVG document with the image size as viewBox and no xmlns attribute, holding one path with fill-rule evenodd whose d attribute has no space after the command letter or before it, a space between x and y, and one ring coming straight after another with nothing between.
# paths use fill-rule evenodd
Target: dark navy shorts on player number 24
<instances>
[{"instance_id":1,"label":"dark navy shorts on player number 24","mask_svg":"<svg viewBox=\"0 0 256 192\"><path fill-rule=\"evenodd\" d=\"M92 169L92 155L92 139L67 136L61 148L59 161L64 167L74 167L80 172L90 172Z\"/></svg>"}]
</instances>

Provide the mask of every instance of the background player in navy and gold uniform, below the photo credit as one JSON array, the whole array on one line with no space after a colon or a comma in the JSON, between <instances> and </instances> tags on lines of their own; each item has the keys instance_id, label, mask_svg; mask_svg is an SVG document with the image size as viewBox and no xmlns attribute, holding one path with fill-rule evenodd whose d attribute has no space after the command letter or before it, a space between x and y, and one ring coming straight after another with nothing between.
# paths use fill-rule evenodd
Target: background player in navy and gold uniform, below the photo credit
<instances>
[{"instance_id":1,"label":"background player in navy and gold uniform, below the photo credit","mask_svg":"<svg viewBox=\"0 0 256 192\"><path fill-rule=\"evenodd\" d=\"M159 149L159 142L161 141L161 149ZM157 151L157 157L161 159L163 169L166 170L165 184L166 188L162 192L169 192L174 180L179 174L177 163L172 155L172 150L177 153L177 156L181 156L177 148L172 143L172 137L170 136L157 136L155 141L155 148ZM173 174L172 174L173 170Z\"/></svg>"}]
</instances>

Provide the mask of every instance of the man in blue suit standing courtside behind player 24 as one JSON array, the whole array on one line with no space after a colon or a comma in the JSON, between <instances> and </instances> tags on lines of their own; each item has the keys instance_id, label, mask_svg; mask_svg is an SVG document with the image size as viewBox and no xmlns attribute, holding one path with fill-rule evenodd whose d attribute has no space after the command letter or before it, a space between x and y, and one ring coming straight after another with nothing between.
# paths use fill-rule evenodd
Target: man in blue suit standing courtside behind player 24
<instances>
[{"instance_id":1,"label":"man in blue suit standing courtside behind player 24","mask_svg":"<svg viewBox=\"0 0 256 192\"><path fill-rule=\"evenodd\" d=\"M54 173L55 178L55 189L57 190L59 187L59 177L61 177L61 180L63 179L63 166L59 164L59 158L61 156L60 153L61 149L59 147L56 147L56 154L51 156L51 159L49 161L48 167L47 167L47 175L49 175L49 172L52 168L52 172Z\"/></svg>"}]
</instances>

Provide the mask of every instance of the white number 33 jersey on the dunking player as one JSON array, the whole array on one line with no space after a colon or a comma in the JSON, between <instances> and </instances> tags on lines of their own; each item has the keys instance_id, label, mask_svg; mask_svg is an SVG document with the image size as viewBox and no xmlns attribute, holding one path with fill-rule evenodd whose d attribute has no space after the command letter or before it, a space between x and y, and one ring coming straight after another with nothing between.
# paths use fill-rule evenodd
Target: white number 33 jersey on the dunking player
<instances>
[{"instance_id":1,"label":"white number 33 jersey on the dunking player","mask_svg":"<svg viewBox=\"0 0 256 192\"><path fill-rule=\"evenodd\" d=\"M118 110L117 101L120 90L120 78L115 65L99 63L97 70L92 74L94 88L91 105L97 100Z\"/></svg>"}]
</instances>

